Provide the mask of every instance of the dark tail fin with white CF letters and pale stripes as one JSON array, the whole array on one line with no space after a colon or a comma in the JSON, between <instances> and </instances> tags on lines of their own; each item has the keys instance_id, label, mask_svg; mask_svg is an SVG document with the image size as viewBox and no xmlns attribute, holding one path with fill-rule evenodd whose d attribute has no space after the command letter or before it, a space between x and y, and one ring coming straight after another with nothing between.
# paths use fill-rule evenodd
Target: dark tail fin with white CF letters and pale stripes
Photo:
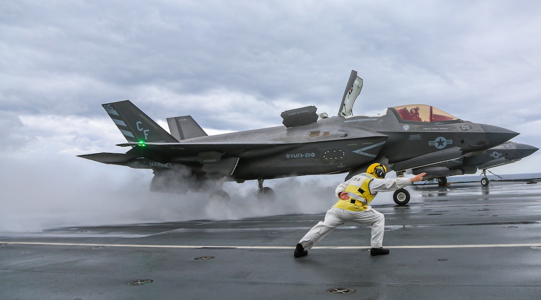
<instances>
[{"instance_id":1,"label":"dark tail fin with white CF letters and pale stripes","mask_svg":"<svg viewBox=\"0 0 541 300\"><path fill-rule=\"evenodd\" d=\"M129 100L102 104L102 106L128 142L179 142Z\"/></svg>"}]
</instances>

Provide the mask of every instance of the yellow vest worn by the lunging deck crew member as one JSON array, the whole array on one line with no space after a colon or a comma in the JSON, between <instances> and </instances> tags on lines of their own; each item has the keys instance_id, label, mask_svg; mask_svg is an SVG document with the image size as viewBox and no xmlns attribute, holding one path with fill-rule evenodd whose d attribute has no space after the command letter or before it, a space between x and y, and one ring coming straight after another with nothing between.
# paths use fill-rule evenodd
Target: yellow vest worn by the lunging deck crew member
<instances>
[{"instance_id":1,"label":"yellow vest worn by the lunging deck crew member","mask_svg":"<svg viewBox=\"0 0 541 300\"><path fill-rule=\"evenodd\" d=\"M335 208L341 208L351 211L363 211L368 209L368 204L374 199L374 195L370 194L370 189L368 189L368 184L374 179L377 178L370 173L361 173L355 175L349 181L345 192L349 196L349 200L339 199L337 204L334 204Z\"/></svg>"}]
</instances>

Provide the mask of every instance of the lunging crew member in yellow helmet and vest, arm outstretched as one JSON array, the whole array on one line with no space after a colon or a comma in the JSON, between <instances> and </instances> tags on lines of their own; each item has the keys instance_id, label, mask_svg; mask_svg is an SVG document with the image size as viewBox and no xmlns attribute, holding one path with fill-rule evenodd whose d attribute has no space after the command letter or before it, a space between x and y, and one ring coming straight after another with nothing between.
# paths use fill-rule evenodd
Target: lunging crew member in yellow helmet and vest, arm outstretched
<instances>
[{"instance_id":1,"label":"lunging crew member in yellow helmet and vest, arm outstretched","mask_svg":"<svg viewBox=\"0 0 541 300\"><path fill-rule=\"evenodd\" d=\"M388 249L382 247L385 217L368 205L378 192L394 191L423 180L426 173L412 178L387 178L387 169L380 163L368 166L366 173L351 177L348 181L338 185L335 195L339 198L332 208L327 210L324 221L319 222L301 238L296 245L294 257L308 255L310 249L329 232L346 221L362 225L372 225L372 238L370 239L370 255L389 254Z\"/></svg>"}]
</instances>

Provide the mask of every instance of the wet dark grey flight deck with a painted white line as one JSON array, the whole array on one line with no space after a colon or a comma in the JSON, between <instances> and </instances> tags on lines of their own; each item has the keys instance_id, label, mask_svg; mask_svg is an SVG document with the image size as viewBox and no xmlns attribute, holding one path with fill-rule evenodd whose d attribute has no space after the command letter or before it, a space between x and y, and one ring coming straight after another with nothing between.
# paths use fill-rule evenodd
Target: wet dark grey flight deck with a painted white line
<instances>
[{"instance_id":1,"label":"wet dark grey flight deck with a painted white line","mask_svg":"<svg viewBox=\"0 0 541 300\"><path fill-rule=\"evenodd\" d=\"M408 206L374 205L386 256L346 223L293 258L324 214L0 235L0 298L541 298L541 184L410 191Z\"/></svg>"}]
</instances>

